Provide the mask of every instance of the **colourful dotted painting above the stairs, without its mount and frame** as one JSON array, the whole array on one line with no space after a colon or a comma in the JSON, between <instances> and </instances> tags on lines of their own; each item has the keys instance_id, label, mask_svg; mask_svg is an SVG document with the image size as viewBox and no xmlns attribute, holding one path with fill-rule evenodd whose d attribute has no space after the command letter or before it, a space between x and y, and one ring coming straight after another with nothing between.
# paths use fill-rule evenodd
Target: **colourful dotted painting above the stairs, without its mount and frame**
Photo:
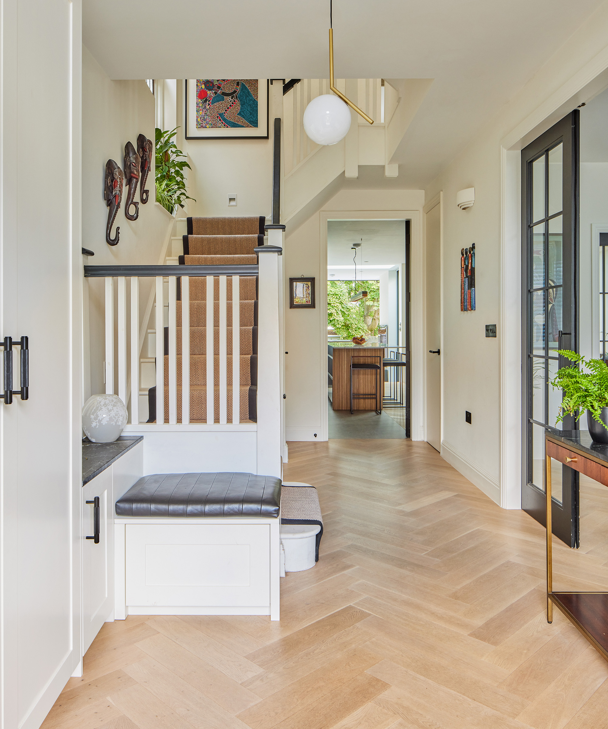
<instances>
[{"instance_id":1,"label":"colourful dotted painting above the stairs, without its mount and frame","mask_svg":"<svg viewBox=\"0 0 608 729\"><path fill-rule=\"evenodd\" d=\"M196 79L196 128L258 128L258 79Z\"/></svg>"}]
</instances>

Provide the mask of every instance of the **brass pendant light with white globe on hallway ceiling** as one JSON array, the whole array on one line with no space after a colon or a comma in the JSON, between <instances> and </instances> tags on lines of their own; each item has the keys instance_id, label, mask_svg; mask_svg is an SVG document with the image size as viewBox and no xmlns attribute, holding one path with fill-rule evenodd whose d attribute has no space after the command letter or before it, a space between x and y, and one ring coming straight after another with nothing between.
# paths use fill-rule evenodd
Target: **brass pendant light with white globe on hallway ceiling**
<instances>
[{"instance_id":1,"label":"brass pendant light with white globe on hallway ceiling","mask_svg":"<svg viewBox=\"0 0 608 729\"><path fill-rule=\"evenodd\" d=\"M350 129L348 106L357 114L361 114L369 124L374 123L373 119L355 106L334 85L334 28L331 2L332 0L329 3L329 88L335 95L322 94L313 98L304 112L304 131L309 139L323 145L336 144L347 135Z\"/></svg>"}]
</instances>

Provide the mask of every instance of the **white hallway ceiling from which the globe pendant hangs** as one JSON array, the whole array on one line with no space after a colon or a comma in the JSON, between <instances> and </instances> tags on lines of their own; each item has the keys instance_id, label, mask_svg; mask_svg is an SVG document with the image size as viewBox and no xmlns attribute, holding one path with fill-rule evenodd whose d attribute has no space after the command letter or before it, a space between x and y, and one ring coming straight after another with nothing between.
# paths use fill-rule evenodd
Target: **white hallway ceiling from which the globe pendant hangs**
<instances>
[{"instance_id":1,"label":"white hallway ceiling from which the globe pendant hangs","mask_svg":"<svg viewBox=\"0 0 608 729\"><path fill-rule=\"evenodd\" d=\"M335 0L336 77L434 79L396 153L426 187L601 0ZM112 79L328 74L328 0L83 0Z\"/></svg>"}]
</instances>

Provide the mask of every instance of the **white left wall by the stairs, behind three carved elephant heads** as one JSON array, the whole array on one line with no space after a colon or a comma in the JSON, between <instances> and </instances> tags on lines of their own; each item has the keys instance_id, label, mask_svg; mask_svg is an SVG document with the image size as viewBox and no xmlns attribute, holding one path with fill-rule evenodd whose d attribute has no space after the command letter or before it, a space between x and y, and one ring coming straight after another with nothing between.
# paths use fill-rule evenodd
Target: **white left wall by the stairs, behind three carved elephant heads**
<instances>
[{"instance_id":1,"label":"white left wall by the stairs, behind three carved elephant heads","mask_svg":"<svg viewBox=\"0 0 608 729\"><path fill-rule=\"evenodd\" d=\"M108 159L123 167L127 141L137 145L139 133L154 140L155 101L145 81L112 81L86 47L82 47L82 246L95 252L85 258L89 265L157 264L173 217L155 202L154 167L146 187L150 201L139 205L139 217L130 222L124 215L126 192L112 227L120 227L117 246L105 242L107 211L104 171ZM139 187L135 195L139 200ZM139 311L143 315L152 279L139 286ZM104 279L85 280L88 294L91 342L91 379L85 366L85 398L104 392ZM85 302L86 305L86 302ZM85 332L85 337L87 332Z\"/></svg>"}]
</instances>

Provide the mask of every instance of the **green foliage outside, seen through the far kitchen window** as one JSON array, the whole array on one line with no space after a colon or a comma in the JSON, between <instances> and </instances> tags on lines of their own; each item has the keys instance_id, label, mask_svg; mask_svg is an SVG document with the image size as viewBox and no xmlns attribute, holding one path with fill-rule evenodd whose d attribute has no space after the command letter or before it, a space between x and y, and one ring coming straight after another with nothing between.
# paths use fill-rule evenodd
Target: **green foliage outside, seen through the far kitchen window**
<instances>
[{"instance_id":1,"label":"green foliage outside, seen through the far kitchen window","mask_svg":"<svg viewBox=\"0 0 608 729\"><path fill-rule=\"evenodd\" d=\"M367 298L352 302L355 291L366 291ZM380 320L380 281L328 281L327 324L342 339L377 335Z\"/></svg>"}]
</instances>

